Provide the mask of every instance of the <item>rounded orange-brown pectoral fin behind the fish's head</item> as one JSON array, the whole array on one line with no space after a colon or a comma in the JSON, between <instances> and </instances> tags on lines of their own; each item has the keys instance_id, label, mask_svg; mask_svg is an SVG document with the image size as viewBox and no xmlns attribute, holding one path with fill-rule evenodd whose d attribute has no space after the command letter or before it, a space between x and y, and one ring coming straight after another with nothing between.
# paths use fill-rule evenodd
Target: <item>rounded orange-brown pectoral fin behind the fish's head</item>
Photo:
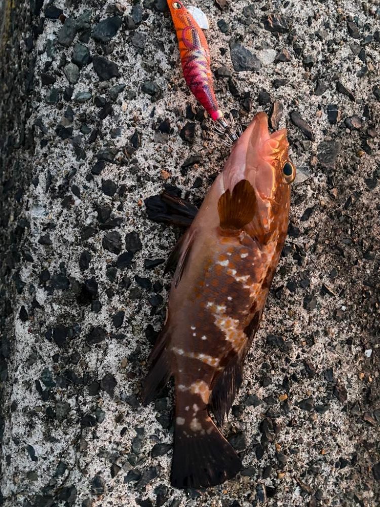
<instances>
[{"instance_id":1,"label":"rounded orange-brown pectoral fin behind the fish's head","mask_svg":"<svg viewBox=\"0 0 380 507\"><path fill-rule=\"evenodd\" d=\"M235 185L232 193L227 189L218 201L221 229L243 229L253 219L257 209L256 194L247 179Z\"/></svg>"}]
</instances>

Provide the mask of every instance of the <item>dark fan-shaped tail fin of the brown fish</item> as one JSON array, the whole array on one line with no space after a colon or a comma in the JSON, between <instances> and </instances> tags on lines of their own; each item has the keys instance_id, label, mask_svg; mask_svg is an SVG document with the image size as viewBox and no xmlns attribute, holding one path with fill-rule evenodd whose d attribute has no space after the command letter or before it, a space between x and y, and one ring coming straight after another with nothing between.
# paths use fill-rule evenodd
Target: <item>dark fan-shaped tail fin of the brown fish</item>
<instances>
[{"instance_id":1,"label":"dark fan-shaped tail fin of the brown fish","mask_svg":"<svg viewBox=\"0 0 380 507\"><path fill-rule=\"evenodd\" d=\"M176 418L172 486L180 489L216 486L235 477L241 466L236 452L206 409L199 411L190 424L188 419Z\"/></svg>"}]
</instances>

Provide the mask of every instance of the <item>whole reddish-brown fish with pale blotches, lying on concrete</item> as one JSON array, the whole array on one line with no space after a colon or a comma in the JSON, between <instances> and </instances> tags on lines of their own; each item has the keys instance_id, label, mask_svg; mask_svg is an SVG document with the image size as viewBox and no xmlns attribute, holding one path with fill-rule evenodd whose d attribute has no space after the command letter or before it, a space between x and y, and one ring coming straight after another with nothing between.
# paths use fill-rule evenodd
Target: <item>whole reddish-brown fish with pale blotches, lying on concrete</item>
<instances>
[{"instance_id":1,"label":"whole reddish-brown fish with pale blotches, lying on concrete","mask_svg":"<svg viewBox=\"0 0 380 507\"><path fill-rule=\"evenodd\" d=\"M258 113L168 261L177 266L142 397L147 405L174 377L171 484L177 488L215 486L241 469L217 425L242 383L287 234L295 177L288 148L287 130L270 133L267 115ZM175 200L167 204L178 224ZM194 206L182 207L188 224Z\"/></svg>"}]
</instances>

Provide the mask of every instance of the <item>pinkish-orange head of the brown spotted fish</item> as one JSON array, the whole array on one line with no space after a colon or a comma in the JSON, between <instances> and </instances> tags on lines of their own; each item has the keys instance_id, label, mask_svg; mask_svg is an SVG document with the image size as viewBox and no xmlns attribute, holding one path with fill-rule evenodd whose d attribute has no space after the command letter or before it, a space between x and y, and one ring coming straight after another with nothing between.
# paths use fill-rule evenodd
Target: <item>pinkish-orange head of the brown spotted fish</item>
<instances>
[{"instance_id":1,"label":"pinkish-orange head of the brown spotted fish","mask_svg":"<svg viewBox=\"0 0 380 507\"><path fill-rule=\"evenodd\" d=\"M288 149L287 130L270 133L268 117L261 112L235 143L225 167L225 188L232 192L242 179L253 187L257 206L252 235L261 239L287 229L290 184L295 178Z\"/></svg>"}]
</instances>

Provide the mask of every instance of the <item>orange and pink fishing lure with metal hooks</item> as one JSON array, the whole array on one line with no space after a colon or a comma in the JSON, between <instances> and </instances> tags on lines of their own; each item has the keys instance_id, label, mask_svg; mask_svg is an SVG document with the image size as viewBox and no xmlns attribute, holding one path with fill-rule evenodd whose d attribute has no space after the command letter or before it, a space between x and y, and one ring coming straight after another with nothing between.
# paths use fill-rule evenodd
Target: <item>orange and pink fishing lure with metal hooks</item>
<instances>
[{"instance_id":1,"label":"orange and pink fishing lure with metal hooks","mask_svg":"<svg viewBox=\"0 0 380 507\"><path fill-rule=\"evenodd\" d=\"M225 133L234 142L238 135L225 120L215 97L210 50L205 34L182 2L168 0L168 6L177 33L186 84L211 118L218 123L219 133Z\"/></svg>"}]
</instances>

